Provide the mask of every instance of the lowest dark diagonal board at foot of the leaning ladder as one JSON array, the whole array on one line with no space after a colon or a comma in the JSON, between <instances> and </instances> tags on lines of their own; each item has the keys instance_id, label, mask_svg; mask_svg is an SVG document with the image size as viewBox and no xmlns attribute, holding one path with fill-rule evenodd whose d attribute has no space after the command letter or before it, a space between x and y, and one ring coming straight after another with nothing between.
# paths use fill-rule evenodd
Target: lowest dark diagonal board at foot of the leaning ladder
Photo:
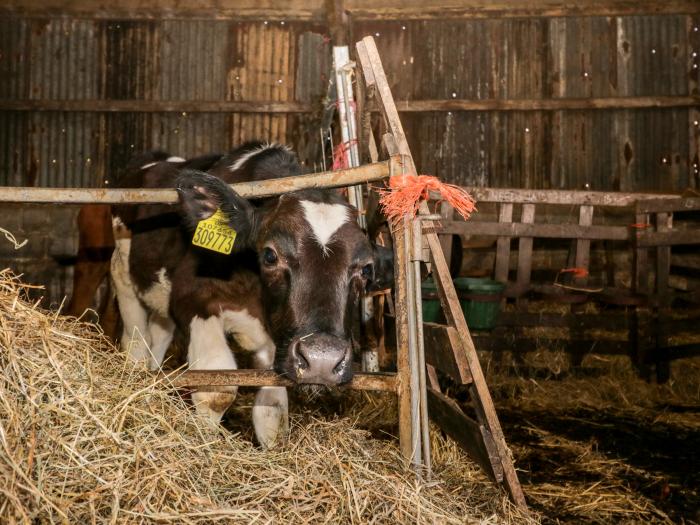
<instances>
[{"instance_id":1,"label":"lowest dark diagonal board at foot of the leaning ladder","mask_svg":"<svg viewBox=\"0 0 700 525\"><path fill-rule=\"evenodd\" d=\"M491 433L467 417L455 401L432 388L428 389L428 406L430 419L466 450L491 479L503 481L503 466Z\"/></svg>"}]
</instances>

